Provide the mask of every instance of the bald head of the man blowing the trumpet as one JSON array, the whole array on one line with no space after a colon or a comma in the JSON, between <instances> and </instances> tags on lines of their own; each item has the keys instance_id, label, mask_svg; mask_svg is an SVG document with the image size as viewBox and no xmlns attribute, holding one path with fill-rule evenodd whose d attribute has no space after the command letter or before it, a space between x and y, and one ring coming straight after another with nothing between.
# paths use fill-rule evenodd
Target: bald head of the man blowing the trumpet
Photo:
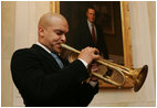
<instances>
[{"instance_id":1,"label":"bald head of the man blowing the trumpet","mask_svg":"<svg viewBox=\"0 0 157 108\"><path fill-rule=\"evenodd\" d=\"M69 24L64 17L59 13L45 13L41 17L38 25L38 41L51 52L60 53L61 44L66 42Z\"/></svg>"}]
</instances>

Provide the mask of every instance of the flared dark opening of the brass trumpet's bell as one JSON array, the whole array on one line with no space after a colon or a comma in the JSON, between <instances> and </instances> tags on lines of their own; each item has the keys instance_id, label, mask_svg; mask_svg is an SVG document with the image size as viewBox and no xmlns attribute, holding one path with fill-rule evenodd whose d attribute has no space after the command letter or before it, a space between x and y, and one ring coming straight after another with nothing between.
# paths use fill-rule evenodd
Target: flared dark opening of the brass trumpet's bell
<instances>
[{"instance_id":1,"label":"flared dark opening of the brass trumpet's bell","mask_svg":"<svg viewBox=\"0 0 157 108\"><path fill-rule=\"evenodd\" d=\"M138 91L142 88L142 86L144 85L145 79L147 77L147 73L148 73L148 66L145 65L145 66L143 66L142 71L139 72L139 74L135 80L134 91Z\"/></svg>"}]
</instances>

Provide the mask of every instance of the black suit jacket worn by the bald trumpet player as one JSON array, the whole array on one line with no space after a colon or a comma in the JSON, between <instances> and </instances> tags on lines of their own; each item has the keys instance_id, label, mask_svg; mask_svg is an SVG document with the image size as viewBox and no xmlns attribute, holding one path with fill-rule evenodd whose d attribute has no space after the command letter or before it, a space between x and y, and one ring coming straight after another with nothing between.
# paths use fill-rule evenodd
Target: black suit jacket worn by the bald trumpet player
<instances>
[{"instance_id":1,"label":"black suit jacket worn by the bald trumpet player","mask_svg":"<svg viewBox=\"0 0 157 108\"><path fill-rule=\"evenodd\" d=\"M71 64L62 61L60 68L55 60L39 45L18 50L11 60L13 82L25 106L87 106L98 91L82 80L88 73L81 61Z\"/></svg>"}]
</instances>

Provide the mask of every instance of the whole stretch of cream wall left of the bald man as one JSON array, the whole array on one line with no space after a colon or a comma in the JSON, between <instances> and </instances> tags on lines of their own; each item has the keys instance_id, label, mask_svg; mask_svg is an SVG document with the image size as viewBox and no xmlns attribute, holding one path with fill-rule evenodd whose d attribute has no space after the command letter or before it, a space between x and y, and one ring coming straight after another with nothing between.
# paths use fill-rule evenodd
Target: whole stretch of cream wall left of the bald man
<instances>
[{"instance_id":1,"label":"whole stretch of cream wall left of the bald man","mask_svg":"<svg viewBox=\"0 0 157 108\"><path fill-rule=\"evenodd\" d=\"M31 46L38 39L38 21L50 11L50 2L2 2L2 106L23 106L11 78L10 60L17 48Z\"/></svg>"}]
</instances>

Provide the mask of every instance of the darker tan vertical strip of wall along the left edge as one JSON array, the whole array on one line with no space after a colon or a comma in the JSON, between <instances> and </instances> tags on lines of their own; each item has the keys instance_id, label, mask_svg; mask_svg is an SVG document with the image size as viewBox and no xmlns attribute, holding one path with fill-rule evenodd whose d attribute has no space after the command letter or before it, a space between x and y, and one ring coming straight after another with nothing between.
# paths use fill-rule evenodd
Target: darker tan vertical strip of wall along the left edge
<instances>
[{"instance_id":1,"label":"darker tan vertical strip of wall along the left edge","mask_svg":"<svg viewBox=\"0 0 157 108\"><path fill-rule=\"evenodd\" d=\"M15 3L1 2L1 105L12 106L10 58L14 46ZM8 14L7 14L8 13Z\"/></svg>"}]
</instances>

